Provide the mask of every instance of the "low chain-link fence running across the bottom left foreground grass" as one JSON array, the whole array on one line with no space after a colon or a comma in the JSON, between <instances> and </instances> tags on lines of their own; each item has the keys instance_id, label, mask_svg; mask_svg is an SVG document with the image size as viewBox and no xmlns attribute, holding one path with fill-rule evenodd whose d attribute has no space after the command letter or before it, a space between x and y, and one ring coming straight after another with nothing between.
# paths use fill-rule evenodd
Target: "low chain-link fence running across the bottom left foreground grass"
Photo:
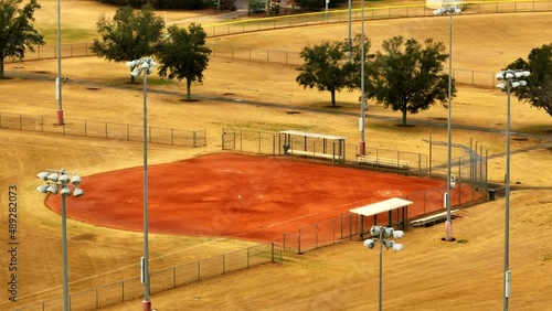
<instances>
[{"instance_id":1,"label":"low chain-link fence running across the bottom left foreground grass","mask_svg":"<svg viewBox=\"0 0 552 311\"><path fill-rule=\"evenodd\" d=\"M282 264L282 246L269 243L155 271L150 274L150 293L153 294L264 264ZM136 274L139 275L138 268ZM130 278L110 285L70 293L70 310L97 310L110 304L139 299L142 294L144 285L140 282L140 277ZM45 300L15 310L63 310L63 298L60 297Z\"/></svg>"}]
</instances>

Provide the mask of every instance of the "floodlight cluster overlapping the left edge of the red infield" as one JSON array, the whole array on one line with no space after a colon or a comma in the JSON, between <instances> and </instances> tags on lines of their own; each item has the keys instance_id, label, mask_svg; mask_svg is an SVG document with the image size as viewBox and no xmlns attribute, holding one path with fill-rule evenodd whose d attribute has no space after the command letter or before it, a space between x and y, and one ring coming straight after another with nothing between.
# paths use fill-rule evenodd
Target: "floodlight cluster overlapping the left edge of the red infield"
<instances>
[{"instance_id":1,"label":"floodlight cluster overlapping the left edge of the red infield","mask_svg":"<svg viewBox=\"0 0 552 311\"><path fill-rule=\"evenodd\" d=\"M63 196L68 196L71 194L75 197L82 196L84 191L77 186L82 183L81 178L76 173L72 173L73 176L70 179L68 174L70 173L67 173L64 169L49 169L45 172L40 172L36 178L45 181L46 184L39 185L36 191L40 193L52 194L57 194L57 192L60 192ZM73 186L73 191L70 185Z\"/></svg>"}]
</instances>

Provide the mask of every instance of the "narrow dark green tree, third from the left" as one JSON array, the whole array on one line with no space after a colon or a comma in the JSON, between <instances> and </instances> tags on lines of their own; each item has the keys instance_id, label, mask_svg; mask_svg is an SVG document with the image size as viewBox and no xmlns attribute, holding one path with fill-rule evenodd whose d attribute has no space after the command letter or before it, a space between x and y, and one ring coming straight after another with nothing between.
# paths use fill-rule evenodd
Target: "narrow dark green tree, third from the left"
<instances>
[{"instance_id":1,"label":"narrow dark green tree, third from the left","mask_svg":"<svg viewBox=\"0 0 552 311\"><path fill-rule=\"evenodd\" d=\"M161 77L185 78L187 100L191 99L192 82L203 83L203 71L209 63L211 49L205 45L206 33L199 24L191 23L188 29L172 25L168 29L167 41L159 50L158 58Z\"/></svg>"}]
</instances>

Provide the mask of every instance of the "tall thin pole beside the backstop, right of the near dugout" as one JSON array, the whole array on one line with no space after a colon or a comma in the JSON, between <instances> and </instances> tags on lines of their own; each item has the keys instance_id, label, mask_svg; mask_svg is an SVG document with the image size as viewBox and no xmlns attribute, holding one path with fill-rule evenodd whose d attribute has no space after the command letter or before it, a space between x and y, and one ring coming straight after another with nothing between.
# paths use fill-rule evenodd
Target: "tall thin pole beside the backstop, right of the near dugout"
<instances>
[{"instance_id":1,"label":"tall thin pole beside the backstop, right of the near dugout","mask_svg":"<svg viewBox=\"0 0 552 311\"><path fill-rule=\"evenodd\" d=\"M450 242L453 239L453 221L450 219L450 165L452 165L452 115L453 115L453 13L454 10L449 10L450 15L449 32L448 32L448 150L447 150L447 195L446 195L446 207L447 207L447 221L445 222L445 239Z\"/></svg>"}]
</instances>

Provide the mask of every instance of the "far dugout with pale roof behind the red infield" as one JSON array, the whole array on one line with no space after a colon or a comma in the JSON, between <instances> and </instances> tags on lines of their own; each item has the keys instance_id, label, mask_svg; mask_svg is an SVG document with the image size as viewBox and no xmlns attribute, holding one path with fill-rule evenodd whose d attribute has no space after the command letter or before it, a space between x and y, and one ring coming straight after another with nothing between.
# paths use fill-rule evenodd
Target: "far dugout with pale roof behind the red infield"
<instances>
[{"instance_id":1,"label":"far dugout with pale roof behind the red infield","mask_svg":"<svg viewBox=\"0 0 552 311\"><path fill-rule=\"evenodd\" d=\"M335 135L284 130L279 132L280 154L344 162L346 138Z\"/></svg>"}]
</instances>

